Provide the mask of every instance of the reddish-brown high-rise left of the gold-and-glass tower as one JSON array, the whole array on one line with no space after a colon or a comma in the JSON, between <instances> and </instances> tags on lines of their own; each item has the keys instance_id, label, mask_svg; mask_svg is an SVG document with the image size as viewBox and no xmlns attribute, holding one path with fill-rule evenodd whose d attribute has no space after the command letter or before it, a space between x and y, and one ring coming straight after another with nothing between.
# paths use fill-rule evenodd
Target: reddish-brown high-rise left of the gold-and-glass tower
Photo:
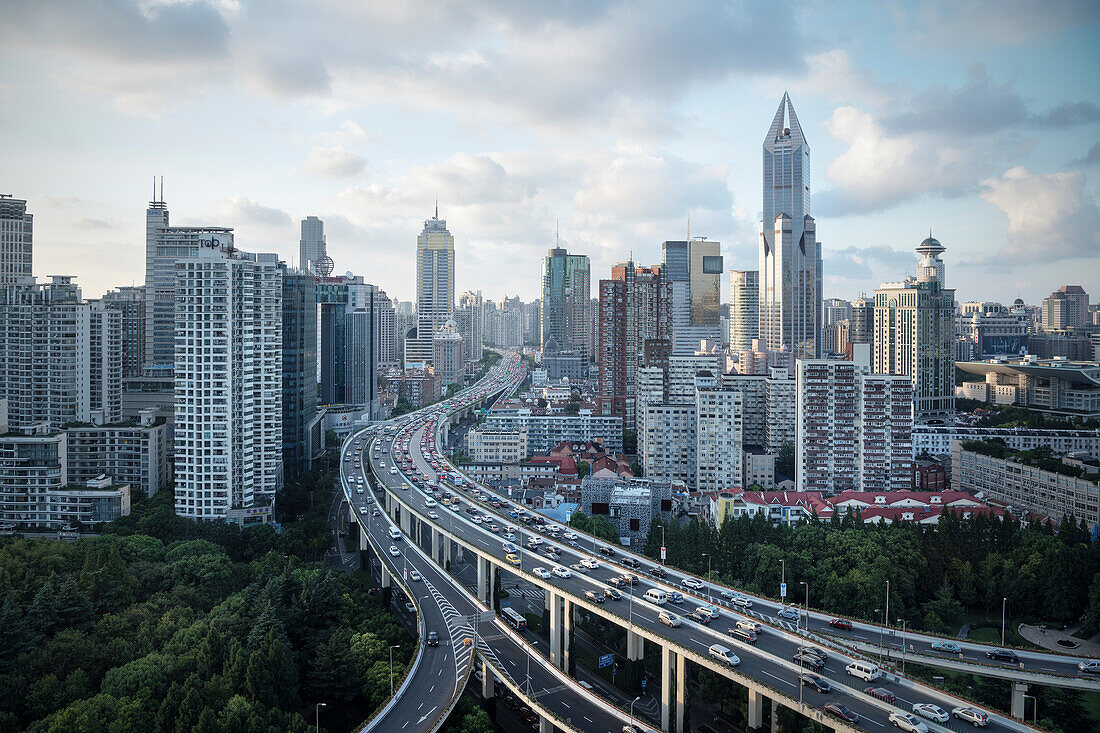
<instances>
[{"instance_id":1,"label":"reddish-brown high-rise left of the gold-and-glass tower","mask_svg":"<svg viewBox=\"0 0 1100 733\"><path fill-rule=\"evenodd\" d=\"M667 339L671 331L669 284L660 267L627 261L600 281L600 328L596 348L600 411L635 426L635 376L647 341Z\"/></svg>"}]
</instances>

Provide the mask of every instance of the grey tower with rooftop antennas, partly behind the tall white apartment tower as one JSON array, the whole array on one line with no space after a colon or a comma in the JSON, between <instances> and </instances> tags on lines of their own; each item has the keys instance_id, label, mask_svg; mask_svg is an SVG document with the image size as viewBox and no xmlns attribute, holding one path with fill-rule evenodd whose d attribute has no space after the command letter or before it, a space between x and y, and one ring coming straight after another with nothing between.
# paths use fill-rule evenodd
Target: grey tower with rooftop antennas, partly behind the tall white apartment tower
<instances>
[{"instance_id":1,"label":"grey tower with rooftop antennas, partly behind the tall white apartment tower","mask_svg":"<svg viewBox=\"0 0 1100 733\"><path fill-rule=\"evenodd\" d=\"M164 198L163 196L161 198ZM233 247L224 227L170 227L168 205L150 201L145 210L145 368L167 372L175 363L176 262L200 250Z\"/></svg>"}]
</instances>

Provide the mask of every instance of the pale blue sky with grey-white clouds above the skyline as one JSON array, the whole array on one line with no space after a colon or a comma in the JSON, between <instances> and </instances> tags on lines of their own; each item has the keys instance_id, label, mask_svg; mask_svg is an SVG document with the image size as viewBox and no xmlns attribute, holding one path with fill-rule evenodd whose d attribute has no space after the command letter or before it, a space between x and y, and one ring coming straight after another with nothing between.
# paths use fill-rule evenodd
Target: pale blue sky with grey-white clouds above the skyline
<instances>
[{"instance_id":1,"label":"pale blue sky with grey-white clouds above the skyline","mask_svg":"<svg viewBox=\"0 0 1100 733\"><path fill-rule=\"evenodd\" d=\"M756 269L788 91L825 297L915 272L931 230L960 302L1100 300L1094 0L3 4L0 193L88 297L144 282L154 176L173 223L290 264L319 216L400 299L437 198L486 298L538 297L556 232L593 281L689 231Z\"/></svg>"}]
</instances>

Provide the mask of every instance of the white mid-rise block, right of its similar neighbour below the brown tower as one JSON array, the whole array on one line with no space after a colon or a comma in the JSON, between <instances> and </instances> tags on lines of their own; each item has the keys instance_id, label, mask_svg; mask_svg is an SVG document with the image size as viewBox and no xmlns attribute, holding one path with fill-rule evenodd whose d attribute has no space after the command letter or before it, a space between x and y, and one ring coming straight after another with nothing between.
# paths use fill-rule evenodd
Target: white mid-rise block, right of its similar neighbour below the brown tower
<instances>
[{"instance_id":1,"label":"white mid-rise block, right of its similar neighbour below the brown tower","mask_svg":"<svg viewBox=\"0 0 1100 733\"><path fill-rule=\"evenodd\" d=\"M700 491L721 491L743 483L744 411L741 392L734 387L700 386L695 392L695 464Z\"/></svg>"}]
</instances>

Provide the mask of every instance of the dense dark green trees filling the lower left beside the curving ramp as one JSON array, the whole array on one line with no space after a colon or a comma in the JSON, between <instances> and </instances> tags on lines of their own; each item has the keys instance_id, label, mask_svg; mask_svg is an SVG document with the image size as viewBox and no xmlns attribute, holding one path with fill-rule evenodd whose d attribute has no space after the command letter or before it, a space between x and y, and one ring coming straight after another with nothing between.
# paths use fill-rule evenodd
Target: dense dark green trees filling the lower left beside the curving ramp
<instances>
[{"instance_id":1,"label":"dense dark green trees filling the lower left beside the curving ramp","mask_svg":"<svg viewBox=\"0 0 1100 733\"><path fill-rule=\"evenodd\" d=\"M289 481L283 532L175 515L172 491L102 535L0 541L0 730L343 731L413 639L365 573L317 560L332 469Z\"/></svg>"}]
</instances>

